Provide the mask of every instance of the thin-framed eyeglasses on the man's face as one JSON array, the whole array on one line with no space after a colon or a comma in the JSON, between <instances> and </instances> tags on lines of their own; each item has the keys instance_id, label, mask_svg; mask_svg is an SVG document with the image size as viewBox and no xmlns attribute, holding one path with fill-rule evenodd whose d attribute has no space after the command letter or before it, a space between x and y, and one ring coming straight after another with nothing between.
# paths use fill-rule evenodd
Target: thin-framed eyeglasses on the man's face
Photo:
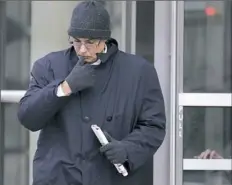
<instances>
[{"instance_id":1,"label":"thin-framed eyeglasses on the man's face","mask_svg":"<svg viewBox=\"0 0 232 185\"><path fill-rule=\"evenodd\" d=\"M100 40L94 39L89 39L82 42L80 39L69 37L69 43L76 46L77 49L80 49L82 45L84 45L87 50L95 49L100 42Z\"/></svg>"}]
</instances>

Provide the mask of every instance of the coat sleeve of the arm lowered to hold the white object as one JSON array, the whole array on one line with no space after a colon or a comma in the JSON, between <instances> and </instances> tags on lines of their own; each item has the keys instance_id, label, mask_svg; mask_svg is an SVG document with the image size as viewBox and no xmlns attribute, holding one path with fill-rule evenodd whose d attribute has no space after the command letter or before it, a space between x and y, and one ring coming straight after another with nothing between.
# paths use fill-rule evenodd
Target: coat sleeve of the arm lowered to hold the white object
<instances>
[{"instance_id":1,"label":"coat sleeve of the arm lowered to hold the white object","mask_svg":"<svg viewBox=\"0 0 232 185\"><path fill-rule=\"evenodd\" d=\"M161 146L166 129L164 99L155 68L146 64L141 75L141 110L133 131L124 139L127 145L128 165L138 169Z\"/></svg>"}]
</instances>

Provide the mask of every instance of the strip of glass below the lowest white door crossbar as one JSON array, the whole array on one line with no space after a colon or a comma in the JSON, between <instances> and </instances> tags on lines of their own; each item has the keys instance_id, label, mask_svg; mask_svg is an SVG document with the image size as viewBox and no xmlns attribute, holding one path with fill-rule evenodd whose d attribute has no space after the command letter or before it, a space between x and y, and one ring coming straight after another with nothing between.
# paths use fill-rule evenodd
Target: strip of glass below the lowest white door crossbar
<instances>
[{"instance_id":1,"label":"strip of glass below the lowest white door crossbar","mask_svg":"<svg viewBox=\"0 0 232 185\"><path fill-rule=\"evenodd\" d=\"M231 185L231 171L185 171L183 185Z\"/></svg>"}]
</instances>

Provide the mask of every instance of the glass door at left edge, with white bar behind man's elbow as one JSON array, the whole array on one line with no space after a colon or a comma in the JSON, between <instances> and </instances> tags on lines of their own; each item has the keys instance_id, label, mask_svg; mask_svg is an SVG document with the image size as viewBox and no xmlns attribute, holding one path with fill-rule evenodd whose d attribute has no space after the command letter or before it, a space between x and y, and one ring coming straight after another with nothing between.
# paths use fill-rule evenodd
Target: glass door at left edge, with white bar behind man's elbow
<instances>
[{"instance_id":1,"label":"glass door at left edge, with white bar behind man's elbow","mask_svg":"<svg viewBox=\"0 0 232 185\"><path fill-rule=\"evenodd\" d=\"M30 72L29 1L0 2L0 184L29 184L29 133L17 118Z\"/></svg>"}]
</instances>

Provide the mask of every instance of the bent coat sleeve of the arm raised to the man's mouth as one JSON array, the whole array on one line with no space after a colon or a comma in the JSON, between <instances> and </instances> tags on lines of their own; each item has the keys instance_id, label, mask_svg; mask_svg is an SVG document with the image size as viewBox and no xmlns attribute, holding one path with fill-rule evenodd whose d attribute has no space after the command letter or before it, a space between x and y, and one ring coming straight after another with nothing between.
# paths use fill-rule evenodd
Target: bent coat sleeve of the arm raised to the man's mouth
<instances>
[{"instance_id":1,"label":"bent coat sleeve of the arm raised to the man's mouth","mask_svg":"<svg viewBox=\"0 0 232 185\"><path fill-rule=\"evenodd\" d=\"M19 102L18 119L31 131L45 127L68 99L57 97L57 88L63 80L53 80L48 64L46 58L34 63L29 88Z\"/></svg>"}]
</instances>

